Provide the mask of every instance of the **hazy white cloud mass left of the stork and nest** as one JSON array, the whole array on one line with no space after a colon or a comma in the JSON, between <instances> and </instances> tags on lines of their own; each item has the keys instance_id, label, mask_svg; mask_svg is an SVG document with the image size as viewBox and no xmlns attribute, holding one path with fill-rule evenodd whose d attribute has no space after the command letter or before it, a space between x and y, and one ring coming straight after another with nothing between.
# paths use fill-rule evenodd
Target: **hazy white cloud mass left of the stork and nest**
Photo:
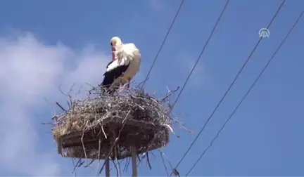
<instances>
[{"instance_id":1,"label":"hazy white cloud mass left of the stork and nest","mask_svg":"<svg viewBox=\"0 0 304 177\"><path fill-rule=\"evenodd\" d=\"M40 120L33 119L33 113L43 108L44 96L62 97L59 84L65 90L73 83L98 84L109 61L110 56L94 46L83 51L59 43L47 46L30 33L0 37L0 169L34 177L61 176L56 152L38 151L43 142L34 126Z\"/></svg>"}]
</instances>

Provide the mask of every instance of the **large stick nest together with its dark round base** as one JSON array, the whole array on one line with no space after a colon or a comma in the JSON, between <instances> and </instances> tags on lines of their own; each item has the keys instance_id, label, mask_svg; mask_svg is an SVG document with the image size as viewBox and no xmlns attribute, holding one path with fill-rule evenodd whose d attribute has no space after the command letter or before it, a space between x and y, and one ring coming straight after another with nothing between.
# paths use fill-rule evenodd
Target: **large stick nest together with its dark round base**
<instances>
[{"instance_id":1,"label":"large stick nest together with its dark round base","mask_svg":"<svg viewBox=\"0 0 304 177\"><path fill-rule=\"evenodd\" d=\"M69 110L56 116L53 136L64 157L123 159L165 146L169 142L170 103L168 95L153 98L141 89L124 94L101 94L73 100Z\"/></svg>"}]
</instances>

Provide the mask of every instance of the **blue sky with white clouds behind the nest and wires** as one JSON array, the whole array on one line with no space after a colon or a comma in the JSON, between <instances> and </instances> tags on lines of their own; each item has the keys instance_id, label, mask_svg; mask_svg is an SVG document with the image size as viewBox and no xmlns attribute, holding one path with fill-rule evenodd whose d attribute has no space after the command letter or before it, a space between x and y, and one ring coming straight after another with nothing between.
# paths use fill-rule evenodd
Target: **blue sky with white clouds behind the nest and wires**
<instances>
[{"instance_id":1,"label":"blue sky with white clouds behind the nest and wires","mask_svg":"<svg viewBox=\"0 0 304 177\"><path fill-rule=\"evenodd\" d=\"M194 140L224 91L277 11L279 0L232 0L173 111L188 133L175 127L163 149L175 166ZM165 93L182 86L220 15L225 0L185 1L161 51L146 91ZM97 84L110 61L110 38L121 37L141 50L141 81L163 41L179 1L0 1L1 176L73 176L70 159L56 154L49 126L50 107L77 82ZM196 141L178 171L191 168L262 67L303 11L304 1L289 0L261 41L232 91ZM239 107L213 147L190 176L303 176L304 21L298 25ZM37 64L38 63L38 64ZM44 100L48 100L48 103ZM59 111L56 107L56 111ZM16 140L18 139L18 140ZM165 176L161 159L139 176ZM1 155L2 156L2 155ZM93 176L79 169L78 176ZM129 175L129 174L128 174ZM103 174L101 175L103 176Z\"/></svg>"}]
</instances>

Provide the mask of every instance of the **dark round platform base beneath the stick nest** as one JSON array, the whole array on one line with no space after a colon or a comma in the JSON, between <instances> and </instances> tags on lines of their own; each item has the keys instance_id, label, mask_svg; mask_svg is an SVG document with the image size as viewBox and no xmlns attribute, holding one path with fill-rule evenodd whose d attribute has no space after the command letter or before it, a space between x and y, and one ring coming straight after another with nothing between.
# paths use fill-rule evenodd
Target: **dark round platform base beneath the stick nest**
<instances>
[{"instance_id":1,"label":"dark round platform base beneath the stick nest","mask_svg":"<svg viewBox=\"0 0 304 177\"><path fill-rule=\"evenodd\" d=\"M71 132L55 140L58 153L63 157L106 159L110 153L110 159L124 159L132 156L132 146L137 148L137 154L141 154L164 147L170 136L167 126L110 117L103 119L94 129Z\"/></svg>"}]
</instances>

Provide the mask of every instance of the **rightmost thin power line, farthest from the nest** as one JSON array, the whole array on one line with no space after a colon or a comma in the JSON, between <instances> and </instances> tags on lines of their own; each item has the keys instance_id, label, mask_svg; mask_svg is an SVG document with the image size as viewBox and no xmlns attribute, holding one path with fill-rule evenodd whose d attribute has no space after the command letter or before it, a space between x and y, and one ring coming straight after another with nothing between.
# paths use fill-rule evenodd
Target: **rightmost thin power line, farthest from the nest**
<instances>
[{"instance_id":1,"label":"rightmost thin power line, farthest from the nest","mask_svg":"<svg viewBox=\"0 0 304 177\"><path fill-rule=\"evenodd\" d=\"M265 67L262 69L262 72L260 72L260 74L258 75L258 77L255 79L255 81L253 82L253 84L251 85L251 87L248 89L248 91L246 92L246 94L243 96L243 98L239 102L239 104L234 108L234 111L232 112L232 114L230 114L230 116L228 117L228 119L226 120L226 122L224 122L224 124L221 127L221 129L217 132L217 135L215 136L215 138L213 138L213 140L211 140L210 145L208 145L208 147L205 148L205 150L203 151L203 153L201 154L201 156L197 159L197 161L194 163L194 165L191 167L191 169L186 173L186 176L189 175L189 173L192 171L192 169L194 169L194 167L196 166L196 164L198 164L198 162L201 160L201 158L203 157L203 155L205 155L205 152L207 152L207 150L213 145L213 142L218 138L218 136L220 135L221 131L224 129L224 126L226 126L226 124L232 118L232 116L234 115L234 113L236 112L236 110L238 110L238 108L241 105L241 103L243 103L243 100L245 100L245 98L248 96L248 93L251 91L251 89L253 89L253 86L255 86L255 84L258 82L258 79L260 79L260 77L262 76L262 74L265 72L265 70L267 69L268 65L270 65L272 59L277 54L277 52L279 51L279 49L281 48L281 46L284 44L284 42L286 41L286 39L289 37L289 34L291 34L293 28L296 26L296 24L298 23L298 20L300 20L300 18L302 17L303 13L304 13L304 11L302 11L302 13L300 13L300 15L297 18L296 22L294 22L293 26L291 27L291 29L289 29L289 32L286 34L286 37L283 39L283 41L281 41L281 44L279 44L279 47L277 48L277 50L274 51L274 54L272 55L272 57L270 58L270 60L268 60L268 63L265 65Z\"/></svg>"}]
</instances>

